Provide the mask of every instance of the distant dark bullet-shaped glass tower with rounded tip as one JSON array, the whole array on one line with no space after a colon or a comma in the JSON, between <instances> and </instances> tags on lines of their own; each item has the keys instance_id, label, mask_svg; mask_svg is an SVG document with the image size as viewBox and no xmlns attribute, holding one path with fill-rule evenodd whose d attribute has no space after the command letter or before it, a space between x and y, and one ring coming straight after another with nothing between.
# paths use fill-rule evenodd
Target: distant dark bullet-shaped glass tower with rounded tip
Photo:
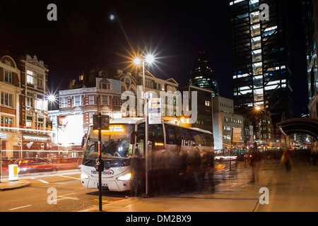
<instances>
[{"instance_id":1,"label":"distant dark bullet-shaped glass tower with rounded tip","mask_svg":"<svg viewBox=\"0 0 318 226\"><path fill-rule=\"evenodd\" d=\"M199 53L199 57L194 63L189 85L194 85L206 90L212 90L213 97L219 95L218 83L216 82L216 78L214 78L211 64L204 52Z\"/></svg>"}]
</instances>

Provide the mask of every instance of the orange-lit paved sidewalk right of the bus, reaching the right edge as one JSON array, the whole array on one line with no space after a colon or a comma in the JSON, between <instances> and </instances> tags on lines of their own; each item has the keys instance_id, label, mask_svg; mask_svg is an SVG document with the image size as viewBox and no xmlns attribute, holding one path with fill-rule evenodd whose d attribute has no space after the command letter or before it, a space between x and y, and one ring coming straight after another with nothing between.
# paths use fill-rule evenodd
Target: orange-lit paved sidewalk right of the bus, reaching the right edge
<instances>
[{"instance_id":1,"label":"orange-lit paved sidewalk right of the bus, reaching the right edge","mask_svg":"<svg viewBox=\"0 0 318 226\"><path fill-rule=\"evenodd\" d=\"M281 162L259 165L257 182L250 183L252 169L232 168L230 177L215 191L171 194L151 198L132 197L107 203L106 212L288 212L318 211L318 165L295 163L286 172ZM269 204L260 204L261 187L269 189ZM98 211L98 206L83 210Z\"/></svg>"}]
</instances>

